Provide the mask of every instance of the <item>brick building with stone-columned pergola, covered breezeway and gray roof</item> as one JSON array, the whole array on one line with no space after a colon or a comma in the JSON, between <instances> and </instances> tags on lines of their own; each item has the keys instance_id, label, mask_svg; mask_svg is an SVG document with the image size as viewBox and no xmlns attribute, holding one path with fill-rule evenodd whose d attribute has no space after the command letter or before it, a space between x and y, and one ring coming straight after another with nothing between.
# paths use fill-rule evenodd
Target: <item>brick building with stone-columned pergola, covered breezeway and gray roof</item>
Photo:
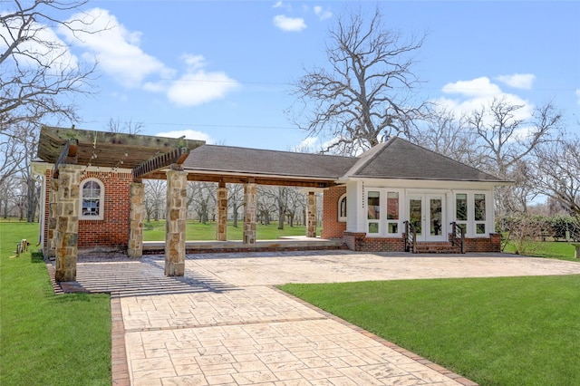
<instances>
[{"instance_id":1,"label":"brick building with stone-columned pergola, covered breezeway and gray roof","mask_svg":"<svg viewBox=\"0 0 580 386\"><path fill-rule=\"evenodd\" d=\"M43 251L56 257L61 280L74 277L79 249L141 256L142 179L168 181L167 275L183 275L188 180L217 184L218 241L227 240L227 184L245 187L244 245L256 244L256 186L277 185L307 193L306 236L316 236L314 192L322 192L322 238L413 252L498 251L493 194L509 183L396 137L340 157L43 127L38 156Z\"/></svg>"}]
</instances>

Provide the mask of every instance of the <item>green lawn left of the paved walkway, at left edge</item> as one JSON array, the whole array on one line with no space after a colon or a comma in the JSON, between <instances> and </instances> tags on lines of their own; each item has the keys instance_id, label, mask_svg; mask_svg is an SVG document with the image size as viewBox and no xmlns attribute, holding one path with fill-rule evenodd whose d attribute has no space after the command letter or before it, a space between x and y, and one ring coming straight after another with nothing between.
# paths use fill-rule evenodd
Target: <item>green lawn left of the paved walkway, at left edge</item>
<instances>
[{"instance_id":1,"label":"green lawn left of the paved walkway, at left edge","mask_svg":"<svg viewBox=\"0 0 580 386\"><path fill-rule=\"evenodd\" d=\"M0 222L0 384L110 385L107 294L53 294L40 253L14 256L38 224Z\"/></svg>"}]
</instances>

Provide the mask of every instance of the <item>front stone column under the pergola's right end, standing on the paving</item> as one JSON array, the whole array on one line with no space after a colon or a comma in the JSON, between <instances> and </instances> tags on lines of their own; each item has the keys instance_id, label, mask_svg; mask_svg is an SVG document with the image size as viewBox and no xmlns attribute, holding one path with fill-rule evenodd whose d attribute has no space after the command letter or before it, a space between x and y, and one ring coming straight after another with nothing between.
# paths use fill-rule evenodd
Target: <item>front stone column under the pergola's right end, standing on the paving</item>
<instances>
[{"instance_id":1,"label":"front stone column under the pergola's right end, standing on the paving","mask_svg":"<svg viewBox=\"0 0 580 386\"><path fill-rule=\"evenodd\" d=\"M188 172L167 171L167 211L165 227L165 275L185 275L185 229Z\"/></svg>"}]
</instances>

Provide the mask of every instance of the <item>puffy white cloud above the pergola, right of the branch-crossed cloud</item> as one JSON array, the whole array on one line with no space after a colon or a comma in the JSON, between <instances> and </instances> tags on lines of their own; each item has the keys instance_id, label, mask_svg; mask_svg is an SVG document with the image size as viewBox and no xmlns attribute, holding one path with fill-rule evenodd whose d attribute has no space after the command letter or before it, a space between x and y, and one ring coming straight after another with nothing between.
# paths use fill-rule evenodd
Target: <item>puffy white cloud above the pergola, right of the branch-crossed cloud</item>
<instances>
[{"instance_id":1,"label":"puffy white cloud above the pergola, right of the branch-crossed cloud","mask_svg":"<svg viewBox=\"0 0 580 386\"><path fill-rule=\"evenodd\" d=\"M239 88L239 83L225 72L205 72L205 60L201 55L184 55L187 72L172 81L167 90L169 101L178 106L198 106L208 101L222 99L228 92ZM150 85L151 88L163 86Z\"/></svg>"}]
</instances>

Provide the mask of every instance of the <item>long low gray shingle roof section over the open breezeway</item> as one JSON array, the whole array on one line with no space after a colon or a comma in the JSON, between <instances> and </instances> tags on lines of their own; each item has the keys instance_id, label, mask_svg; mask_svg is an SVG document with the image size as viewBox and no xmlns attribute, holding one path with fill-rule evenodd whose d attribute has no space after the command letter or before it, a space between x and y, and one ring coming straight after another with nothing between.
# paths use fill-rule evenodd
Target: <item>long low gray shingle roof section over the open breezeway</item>
<instances>
[{"instance_id":1,"label":"long low gray shingle roof section over the open breezeway","mask_svg":"<svg viewBox=\"0 0 580 386\"><path fill-rule=\"evenodd\" d=\"M291 151L205 145L189 153L187 170L338 179L358 159Z\"/></svg>"}]
</instances>

